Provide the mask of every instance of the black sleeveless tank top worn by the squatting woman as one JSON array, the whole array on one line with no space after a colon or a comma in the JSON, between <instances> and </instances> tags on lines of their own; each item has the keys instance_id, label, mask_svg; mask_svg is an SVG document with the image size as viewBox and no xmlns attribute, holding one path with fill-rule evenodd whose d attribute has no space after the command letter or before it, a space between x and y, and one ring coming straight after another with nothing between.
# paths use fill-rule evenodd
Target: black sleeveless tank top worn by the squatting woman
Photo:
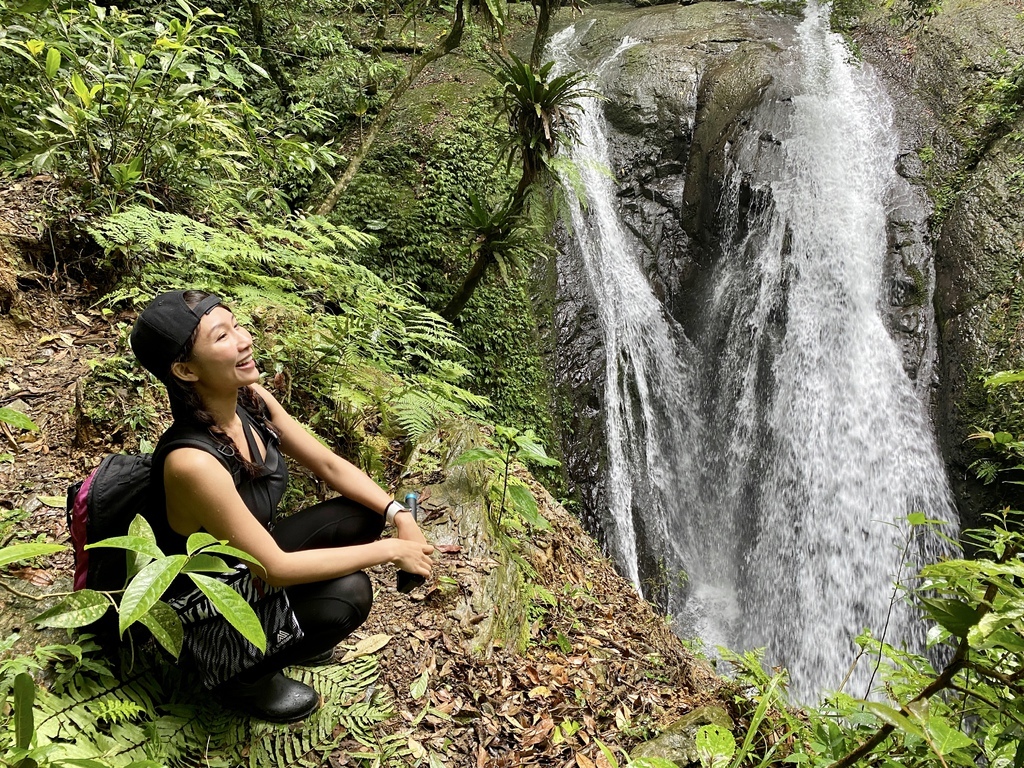
<instances>
[{"instance_id":1,"label":"black sleeveless tank top worn by the squatting woman","mask_svg":"<svg viewBox=\"0 0 1024 768\"><path fill-rule=\"evenodd\" d=\"M179 447L197 447L217 457L231 473L234 487L253 517L259 520L263 527L267 529L273 527L278 505L288 485L288 466L278 446L278 436L264 426L262 420L254 418L241 404L238 407L238 414L242 420L242 430L246 435L249 455L259 468L259 473L255 477L248 476L233 446L217 442L204 427L175 422L157 443L150 476L151 484L157 492L157 509L150 517L150 524L153 525L153 532L157 537L157 545L165 555L184 554L187 541L187 537L175 531L167 521L167 500L164 494L164 462L171 452ZM255 434L260 436L266 450L266 457L262 461Z\"/></svg>"}]
</instances>

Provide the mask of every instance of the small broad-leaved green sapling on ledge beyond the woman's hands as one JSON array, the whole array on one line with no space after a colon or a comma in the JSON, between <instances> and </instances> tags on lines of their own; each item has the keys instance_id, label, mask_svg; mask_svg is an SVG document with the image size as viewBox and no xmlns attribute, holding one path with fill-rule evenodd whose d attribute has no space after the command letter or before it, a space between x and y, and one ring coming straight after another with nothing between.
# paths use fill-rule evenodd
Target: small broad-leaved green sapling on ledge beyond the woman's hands
<instances>
[{"instance_id":1,"label":"small broad-leaved green sapling on ledge beyond the woman's hands","mask_svg":"<svg viewBox=\"0 0 1024 768\"><path fill-rule=\"evenodd\" d=\"M503 530L503 522L513 527L522 527L525 522L539 530L550 529L551 523L541 514L529 486L512 473L512 463L520 460L542 467L555 467L558 461L545 453L531 429L520 432L515 427L496 426L488 442L489 445L463 452L452 466L479 463L484 467L487 515L495 528ZM506 518L506 511L514 514Z\"/></svg>"}]
</instances>

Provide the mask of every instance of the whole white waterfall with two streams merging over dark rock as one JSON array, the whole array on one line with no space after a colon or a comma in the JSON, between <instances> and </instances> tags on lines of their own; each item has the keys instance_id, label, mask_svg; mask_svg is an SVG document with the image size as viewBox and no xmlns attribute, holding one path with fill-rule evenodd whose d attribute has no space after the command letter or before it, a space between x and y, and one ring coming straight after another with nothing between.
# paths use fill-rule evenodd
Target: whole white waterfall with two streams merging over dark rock
<instances>
[{"instance_id":1,"label":"whole white waterfall with two streams merging over dark rock","mask_svg":"<svg viewBox=\"0 0 1024 768\"><path fill-rule=\"evenodd\" d=\"M560 67L581 66L585 32L553 39ZM891 109L872 73L848 61L826 8L809 2L797 38L799 72L774 86L791 91L753 110L729 150L726 236L699 337L686 337L644 274L597 102L573 154L587 204L571 207L570 249L605 353L611 554L641 591L645 558L668 575L680 634L766 646L809 700L841 684L865 627L923 649L893 583L941 544L905 517L954 513L927 384L904 370L883 308L887 203L900 181ZM597 67L596 87L632 44ZM740 225L743 184L761 203ZM685 583L672 578L680 571ZM847 690L865 695L869 677L861 663Z\"/></svg>"}]
</instances>

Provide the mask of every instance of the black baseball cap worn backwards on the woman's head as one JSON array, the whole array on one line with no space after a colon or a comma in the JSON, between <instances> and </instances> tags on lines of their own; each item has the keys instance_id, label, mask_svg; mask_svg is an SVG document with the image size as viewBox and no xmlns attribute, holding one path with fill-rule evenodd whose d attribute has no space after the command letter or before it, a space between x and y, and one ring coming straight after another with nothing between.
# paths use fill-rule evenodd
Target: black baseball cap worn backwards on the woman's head
<instances>
[{"instance_id":1,"label":"black baseball cap worn backwards on the woman's head","mask_svg":"<svg viewBox=\"0 0 1024 768\"><path fill-rule=\"evenodd\" d=\"M130 343L136 359L166 383L171 364L196 332L203 317L222 304L219 296L207 296L195 308L185 303L184 291L163 293L142 310L131 330Z\"/></svg>"}]
</instances>

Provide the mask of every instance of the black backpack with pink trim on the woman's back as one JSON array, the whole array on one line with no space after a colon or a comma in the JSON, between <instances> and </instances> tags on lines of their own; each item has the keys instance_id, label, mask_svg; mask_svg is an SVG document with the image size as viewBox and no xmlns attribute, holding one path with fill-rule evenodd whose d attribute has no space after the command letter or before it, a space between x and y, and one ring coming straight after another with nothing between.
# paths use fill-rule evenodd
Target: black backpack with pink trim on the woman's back
<instances>
[{"instance_id":1,"label":"black backpack with pink trim on the woman's back","mask_svg":"<svg viewBox=\"0 0 1024 768\"><path fill-rule=\"evenodd\" d=\"M198 447L213 454L232 473L238 467L222 446L206 430L189 430L158 446L166 453L172 447ZM128 579L128 556L122 549L101 547L86 549L103 539L127 536L135 515L142 515L154 528L166 527L164 498L151 481L152 454L113 454L103 459L87 478L68 488L68 530L75 550L75 589L116 591L124 589ZM172 554L172 553L167 553Z\"/></svg>"}]
</instances>

